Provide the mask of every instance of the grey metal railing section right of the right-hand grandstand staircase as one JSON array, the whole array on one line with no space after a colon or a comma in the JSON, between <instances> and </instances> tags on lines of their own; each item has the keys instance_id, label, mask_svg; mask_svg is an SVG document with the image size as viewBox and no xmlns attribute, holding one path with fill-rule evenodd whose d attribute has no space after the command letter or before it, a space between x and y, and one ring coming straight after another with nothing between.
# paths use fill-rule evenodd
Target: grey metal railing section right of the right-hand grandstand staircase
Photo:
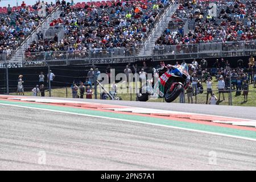
<instances>
[{"instance_id":1,"label":"grey metal railing section right of the right-hand grandstand staircase","mask_svg":"<svg viewBox=\"0 0 256 182\"><path fill-rule=\"evenodd\" d=\"M237 57L255 53L256 41L155 46L152 48L152 60Z\"/></svg>"}]
</instances>

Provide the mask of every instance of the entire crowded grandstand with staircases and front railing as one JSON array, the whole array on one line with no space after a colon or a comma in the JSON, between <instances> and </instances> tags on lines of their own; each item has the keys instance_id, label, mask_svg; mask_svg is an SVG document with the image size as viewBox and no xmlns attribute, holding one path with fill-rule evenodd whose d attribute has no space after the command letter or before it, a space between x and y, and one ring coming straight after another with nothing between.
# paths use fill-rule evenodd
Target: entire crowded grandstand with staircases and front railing
<instances>
[{"instance_id":1,"label":"entire crowded grandstand with staircases and front railing","mask_svg":"<svg viewBox=\"0 0 256 182\"><path fill-rule=\"evenodd\" d=\"M127 63L241 57L256 52L255 1L44 4L45 16L40 14L42 2L11 7L11 13L7 7L0 9L1 63Z\"/></svg>"}]
</instances>

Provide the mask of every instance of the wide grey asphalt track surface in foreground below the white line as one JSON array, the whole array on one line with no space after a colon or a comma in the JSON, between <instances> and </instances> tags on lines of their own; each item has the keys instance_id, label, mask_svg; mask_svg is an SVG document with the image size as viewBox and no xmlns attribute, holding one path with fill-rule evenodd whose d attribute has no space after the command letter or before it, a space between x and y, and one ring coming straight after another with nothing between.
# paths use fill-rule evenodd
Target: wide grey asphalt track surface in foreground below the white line
<instances>
[{"instance_id":1,"label":"wide grey asphalt track surface in foreground below the white line","mask_svg":"<svg viewBox=\"0 0 256 182\"><path fill-rule=\"evenodd\" d=\"M121 103L108 104L115 102ZM182 107L191 112L196 105ZM165 109L172 108L179 109L175 104ZM212 114L206 110L198 112ZM2 170L256 169L256 142L250 140L14 106L0 105L0 111ZM232 114L218 109L222 112ZM46 164L39 164L44 152Z\"/></svg>"}]
</instances>

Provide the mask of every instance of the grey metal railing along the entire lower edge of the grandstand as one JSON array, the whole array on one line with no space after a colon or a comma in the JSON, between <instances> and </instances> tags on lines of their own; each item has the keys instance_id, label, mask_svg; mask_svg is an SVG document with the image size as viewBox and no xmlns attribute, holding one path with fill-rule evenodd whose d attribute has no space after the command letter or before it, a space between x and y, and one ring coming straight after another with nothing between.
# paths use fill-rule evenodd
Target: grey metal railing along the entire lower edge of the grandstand
<instances>
[{"instance_id":1,"label":"grey metal railing along the entire lower edge of the grandstand","mask_svg":"<svg viewBox=\"0 0 256 182\"><path fill-rule=\"evenodd\" d=\"M22 61L14 60L11 54L0 54L0 63L22 63L23 65L73 65L127 63L150 58L152 61L202 59L214 57L237 57L256 54L256 40L244 42L185 44L155 46L149 56L141 55L142 44L131 48L85 49L82 51L31 52L22 56Z\"/></svg>"}]
</instances>

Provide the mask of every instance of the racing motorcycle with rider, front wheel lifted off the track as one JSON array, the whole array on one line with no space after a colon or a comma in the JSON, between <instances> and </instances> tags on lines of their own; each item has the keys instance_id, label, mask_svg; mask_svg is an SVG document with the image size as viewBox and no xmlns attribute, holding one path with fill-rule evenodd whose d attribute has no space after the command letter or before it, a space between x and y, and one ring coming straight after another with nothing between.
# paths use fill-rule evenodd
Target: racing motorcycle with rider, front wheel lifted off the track
<instances>
[{"instance_id":1,"label":"racing motorcycle with rider, front wheel lifted off the track","mask_svg":"<svg viewBox=\"0 0 256 182\"><path fill-rule=\"evenodd\" d=\"M137 100L146 102L149 98L164 98L166 102L174 101L190 85L190 75L194 71L192 64L153 68L154 77L141 81Z\"/></svg>"}]
</instances>

